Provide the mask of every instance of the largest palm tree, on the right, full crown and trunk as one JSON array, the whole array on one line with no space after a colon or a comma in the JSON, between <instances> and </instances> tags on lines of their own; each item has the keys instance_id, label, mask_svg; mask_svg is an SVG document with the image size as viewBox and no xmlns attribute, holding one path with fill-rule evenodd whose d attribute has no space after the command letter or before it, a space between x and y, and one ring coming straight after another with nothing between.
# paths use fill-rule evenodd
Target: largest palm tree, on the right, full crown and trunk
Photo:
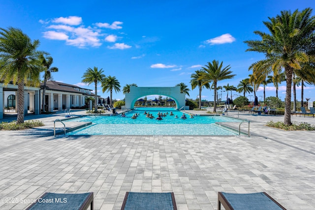
<instances>
[{"instance_id":1,"label":"largest palm tree, on the right, full crown and trunk","mask_svg":"<svg viewBox=\"0 0 315 210\"><path fill-rule=\"evenodd\" d=\"M265 60L260 60L259 66L270 67L272 71L279 72L284 68L286 77L284 124L291 125L291 86L292 75L296 69L301 69L300 63L308 62L310 55L305 49L312 48L312 40L315 30L315 17L311 17L312 9L306 8L299 12L295 10L281 11L281 15L269 18L263 22L270 34L262 31L254 31L261 40L245 41L249 49L264 53ZM259 68L258 68L259 69Z\"/></svg>"}]
</instances>

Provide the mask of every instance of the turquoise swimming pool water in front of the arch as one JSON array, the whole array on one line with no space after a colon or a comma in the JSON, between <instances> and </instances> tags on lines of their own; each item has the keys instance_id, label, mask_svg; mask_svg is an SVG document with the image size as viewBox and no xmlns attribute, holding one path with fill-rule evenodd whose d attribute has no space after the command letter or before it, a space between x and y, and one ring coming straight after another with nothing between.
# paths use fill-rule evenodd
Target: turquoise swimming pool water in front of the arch
<instances>
[{"instance_id":1,"label":"turquoise swimming pool water in front of the arch","mask_svg":"<svg viewBox=\"0 0 315 210\"><path fill-rule=\"evenodd\" d=\"M163 120L146 118L144 112L149 112L155 118L158 112L168 115ZM170 116L173 112L174 116ZM132 115L139 113L137 119ZM178 119L175 118L178 116ZM237 122L239 120L223 116L194 116L181 119L182 112L172 108L136 108L121 116L86 116L71 121L92 121L92 125L68 132L68 135L235 135L236 133L219 127L215 122Z\"/></svg>"}]
</instances>

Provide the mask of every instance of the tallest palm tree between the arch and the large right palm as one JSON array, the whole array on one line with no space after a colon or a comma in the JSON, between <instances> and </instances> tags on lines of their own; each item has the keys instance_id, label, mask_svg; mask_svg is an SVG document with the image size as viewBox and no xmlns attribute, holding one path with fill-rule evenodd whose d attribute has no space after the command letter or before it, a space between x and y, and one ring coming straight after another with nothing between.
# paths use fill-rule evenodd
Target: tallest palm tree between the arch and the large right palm
<instances>
[{"instance_id":1,"label":"tallest palm tree between the arch and the large right palm","mask_svg":"<svg viewBox=\"0 0 315 210\"><path fill-rule=\"evenodd\" d=\"M219 60L213 60L212 63L208 62L208 65L202 67L205 71L202 74L201 79L213 81L212 87L214 88L214 107L213 111L216 112L217 104L216 104L216 95L217 95L217 83L221 80L232 79L235 74L231 74L232 71L229 69L231 68L230 65L225 66L222 68L223 61L219 65Z\"/></svg>"}]
</instances>

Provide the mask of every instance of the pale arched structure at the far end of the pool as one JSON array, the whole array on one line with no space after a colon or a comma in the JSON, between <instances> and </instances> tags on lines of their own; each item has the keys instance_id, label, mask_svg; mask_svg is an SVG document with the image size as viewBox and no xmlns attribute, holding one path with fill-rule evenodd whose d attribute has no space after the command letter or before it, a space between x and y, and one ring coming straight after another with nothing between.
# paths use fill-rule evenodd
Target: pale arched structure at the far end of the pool
<instances>
[{"instance_id":1,"label":"pale arched structure at the far end of the pool","mask_svg":"<svg viewBox=\"0 0 315 210\"><path fill-rule=\"evenodd\" d=\"M125 107L123 109L133 109L138 98L147 95L164 95L172 98L176 103L176 109L185 107L185 93L181 93L181 87L136 87L130 86L130 92L126 93Z\"/></svg>"}]
</instances>

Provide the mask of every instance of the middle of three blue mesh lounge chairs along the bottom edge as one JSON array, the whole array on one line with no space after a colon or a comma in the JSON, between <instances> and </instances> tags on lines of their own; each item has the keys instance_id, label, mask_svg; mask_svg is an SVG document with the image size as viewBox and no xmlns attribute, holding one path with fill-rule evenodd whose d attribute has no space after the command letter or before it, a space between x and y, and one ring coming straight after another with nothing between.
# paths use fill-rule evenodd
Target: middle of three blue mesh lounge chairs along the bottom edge
<instances>
[{"instance_id":1,"label":"middle of three blue mesh lounge chairs along the bottom edge","mask_svg":"<svg viewBox=\"0 0 315 210\"><path fill-rule=\"evenodd\" d=\"M126 192L121 210L177 210L173 192Z\"/></svg>"}]
</instances>

